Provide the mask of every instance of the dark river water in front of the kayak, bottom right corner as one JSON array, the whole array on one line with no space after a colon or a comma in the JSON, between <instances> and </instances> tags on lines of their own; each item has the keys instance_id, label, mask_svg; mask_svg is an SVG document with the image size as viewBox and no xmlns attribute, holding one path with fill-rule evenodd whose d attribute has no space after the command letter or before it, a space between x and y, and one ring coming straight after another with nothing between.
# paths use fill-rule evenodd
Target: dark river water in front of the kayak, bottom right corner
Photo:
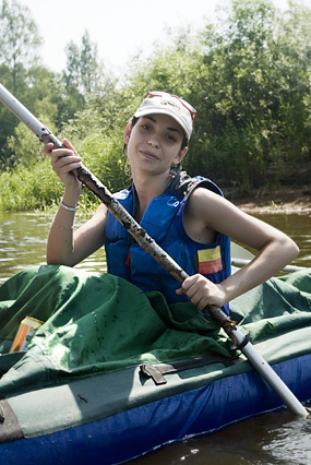
<instances>
[{"instance_id":1,"label":"dark river water in front of the kayak, bottom right corner","mask_svg":"<svg viewBox=\"0 0 311 465\"><path fill-rule=\"evenodd\" d=\"M311 420L283 409L169 444L131 464L306 465L311 463L310 439Z\"/></svg>"}]
</instances>

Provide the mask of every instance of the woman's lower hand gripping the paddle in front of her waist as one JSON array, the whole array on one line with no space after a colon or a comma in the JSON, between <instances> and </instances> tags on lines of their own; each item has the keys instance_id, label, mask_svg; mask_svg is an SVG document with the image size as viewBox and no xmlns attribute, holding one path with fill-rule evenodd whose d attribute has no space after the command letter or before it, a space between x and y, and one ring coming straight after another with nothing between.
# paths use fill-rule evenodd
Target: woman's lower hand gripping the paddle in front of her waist
<instances>
[{"instance_id":1,"label":"woman's lower hand gripping the paddle in front of her waist","mask_svg":"<svg viewBox=\"0 0 311 465\"><path fill-rule=\"evenodd\" d=\"M189 276L182 283L181 288L176 290L176 294L186 295L199 310L211 305L222 307L227 302L222 283L214 284L202 274Z\"/></svg>"}]
</instances>

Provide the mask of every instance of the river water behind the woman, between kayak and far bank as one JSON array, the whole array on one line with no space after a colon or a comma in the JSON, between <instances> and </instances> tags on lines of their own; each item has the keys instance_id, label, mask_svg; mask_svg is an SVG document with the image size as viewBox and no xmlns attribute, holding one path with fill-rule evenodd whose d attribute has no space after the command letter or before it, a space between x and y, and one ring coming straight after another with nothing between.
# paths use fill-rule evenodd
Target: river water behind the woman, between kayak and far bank
<instances>
[{"instance_id":1,"label":"river water behind the woman, between kayak and far bank","mask_svg":"<svg viewBox=\"0 0 311 465\"><path fill-rule=\"evenodd\" d=\"M300 254L294 262L311 266L311 215L265 214L255 215L288 234L299 246ZM52 215L43 213L0 214L0 284L19 271L46 262L46 242ZM76 217L76 226L85 218ZM87 271L106 271L105 251L98 250L76 267Z\"/></svg>"}]
</instances>

